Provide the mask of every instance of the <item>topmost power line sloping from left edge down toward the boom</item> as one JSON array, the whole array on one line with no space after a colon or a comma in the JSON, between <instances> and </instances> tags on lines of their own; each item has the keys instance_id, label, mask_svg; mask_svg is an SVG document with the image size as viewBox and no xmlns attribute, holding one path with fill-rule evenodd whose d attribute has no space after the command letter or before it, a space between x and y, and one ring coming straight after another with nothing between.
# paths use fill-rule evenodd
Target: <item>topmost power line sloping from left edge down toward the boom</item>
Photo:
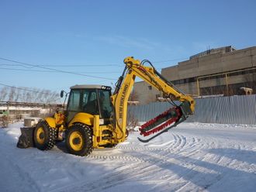
<instances>
[{"instance_id":1,"label":"topmost power line sloping from left edge down toward the boom","mask_svg":"<svg viewBox=\"0 0 256 192\"><path fill-rule=\"evenodd\" d=\"M105 79L105 80L116 80L116 79L107 78L107 77L99 77L99 76L93 76L93 75L87 75L87 74L73 73L73 72L66 71L66 70L56 70L56 69L52 69L52 68L49 68L49 67L42 67L40 65L34 65L34 64L30 64L30 63L19 62L17 60L9 60L9 59L5 59L5 58L2 58L2 57L0 57L0 60L5 60L5 61L12 62L12 63L20 63L22 65L26 65L26 66L30 66L30 67L38 67L38 68L42 68L42 69L46 69L46 70L53 70L53 71L63 73L63 74L76 74L76 75L85 76L85 77L99 78L99 79Z\"/></svg>"}]
</instances>

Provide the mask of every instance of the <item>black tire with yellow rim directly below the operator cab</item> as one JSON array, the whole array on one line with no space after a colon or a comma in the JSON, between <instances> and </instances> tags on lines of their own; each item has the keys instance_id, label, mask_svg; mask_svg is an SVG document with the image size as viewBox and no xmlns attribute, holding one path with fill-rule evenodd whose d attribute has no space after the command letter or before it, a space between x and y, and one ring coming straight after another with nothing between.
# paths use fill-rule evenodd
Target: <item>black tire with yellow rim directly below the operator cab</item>
<instances>
[{"instance_id":1,"label":"black tire with yellow rim directly below the operator cab","mask_svg":"<svg viewBox=\"0 0 256 192\"><path fill-rule=\"evenodd\" d=\"M92 129L87 125L72 125L65 135L68 153L76 156L88 156L92 153Z\"/></svg>"}]
</instances>

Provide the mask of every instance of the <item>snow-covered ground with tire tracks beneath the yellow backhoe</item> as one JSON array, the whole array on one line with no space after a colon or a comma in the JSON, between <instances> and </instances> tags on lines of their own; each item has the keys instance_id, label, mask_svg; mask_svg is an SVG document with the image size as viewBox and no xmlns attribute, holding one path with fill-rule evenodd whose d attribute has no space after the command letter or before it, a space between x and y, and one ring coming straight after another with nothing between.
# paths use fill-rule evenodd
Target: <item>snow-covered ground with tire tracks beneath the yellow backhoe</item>
<instances>
[{"instance_id":1,"label":"snow-covered ground with tire tracks beneath the yellow backhoe","mask_svg":"<svg viewBox=\"0 0 256 192\"><path fill-rule=\"evenodd\" d=\"M256 127L182 123L151 142L138 132L90 156L18 149L0 129L0 191L256 191Z\"/></svg>"}]
</instances>

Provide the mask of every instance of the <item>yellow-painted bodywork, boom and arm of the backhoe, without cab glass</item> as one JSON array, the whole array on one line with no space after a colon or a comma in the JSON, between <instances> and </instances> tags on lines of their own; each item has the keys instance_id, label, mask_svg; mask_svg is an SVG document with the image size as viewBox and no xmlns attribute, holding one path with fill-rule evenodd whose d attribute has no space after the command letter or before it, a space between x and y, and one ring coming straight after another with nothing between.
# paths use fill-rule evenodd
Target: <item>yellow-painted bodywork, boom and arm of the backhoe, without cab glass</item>
<instances>
[{"instance_id":1,"label":"yellow-painted bodywork, boom and arm of the backhoe, without cab glass","mask_svg":"<svg viewBox=\"0 0 256 192\"><path fill-rule=\"evenodd\" d=\"M104 119L100 115L93 115L88 112L78 111L74 116L67 120L67 117L61 112L57 112L54 118L45 118L45 122L50 129L57 129L57 139L64 139L63 135L67 129L71 129L73 125L86 125L92 130L92 147L103 148L106 146L115 146L119 142L126 140L126 121L127 121L127 103L136 77L140 77L147 84L155 87L164 95L169 95L175 100L186 101L189 103L189 115L195 111L195 101L188 94L183 94L172 84L169 84L154 67L145 67L140 60L133 57L126 57L126 64L123 76L119 78L116 90L110 95L112 105L112 117L109 123L104 123ZM100 90L100 88L98 88ZM82 89L81 89L82 90ZM40 132L40 130L39 130ZM39 133L40 134L40 133ZM82 135L78 132L72 132L69 139L81 140ZM43 142L39 139L39 142ZM81 149L81 142L71 147L75 150ZM74 152L75 153L75 152Z\"/></svg>"}]
</instances>

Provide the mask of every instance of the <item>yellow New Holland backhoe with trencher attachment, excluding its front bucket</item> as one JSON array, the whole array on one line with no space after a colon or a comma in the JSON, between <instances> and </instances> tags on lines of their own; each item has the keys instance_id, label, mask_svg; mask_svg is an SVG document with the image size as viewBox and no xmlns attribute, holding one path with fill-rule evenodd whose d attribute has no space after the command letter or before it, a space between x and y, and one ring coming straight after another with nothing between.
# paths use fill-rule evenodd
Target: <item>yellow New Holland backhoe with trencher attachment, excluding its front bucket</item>
<instances>
[{"instance_id":1,"label":"yellow New Holland backhoe with trencher attachment, excluding its front bucket","mask_svg":"<svg viewBox=\"0 0 256 192\"><path fill-rule=\"evenodd\" d=\"M150 119L140 127L140 142L149 142L158 135L184 122L195 111L195 101L183 94L174 84L157 72L149 60L126 57L123 74L116 82L115 90L102 85L75 85L69 93L64 112L56 111L53 117L44 118L29 136L40 150L49 150L57 142L65 141L68 153L88 156L92 149L116 146L128 136L126 130L127 103L136 77L161 91L171 108ZM149 66L145 66L147 63ZM65 98L65 101L66 101ZM64 101L64 103L65 103ZM174 102L176 101L176 102ZM177 105L177 101L179 101ZM24 139L25 133L21 137ZM145 137L146 139L142 139Z\"/></svg>"}]
</instances>

